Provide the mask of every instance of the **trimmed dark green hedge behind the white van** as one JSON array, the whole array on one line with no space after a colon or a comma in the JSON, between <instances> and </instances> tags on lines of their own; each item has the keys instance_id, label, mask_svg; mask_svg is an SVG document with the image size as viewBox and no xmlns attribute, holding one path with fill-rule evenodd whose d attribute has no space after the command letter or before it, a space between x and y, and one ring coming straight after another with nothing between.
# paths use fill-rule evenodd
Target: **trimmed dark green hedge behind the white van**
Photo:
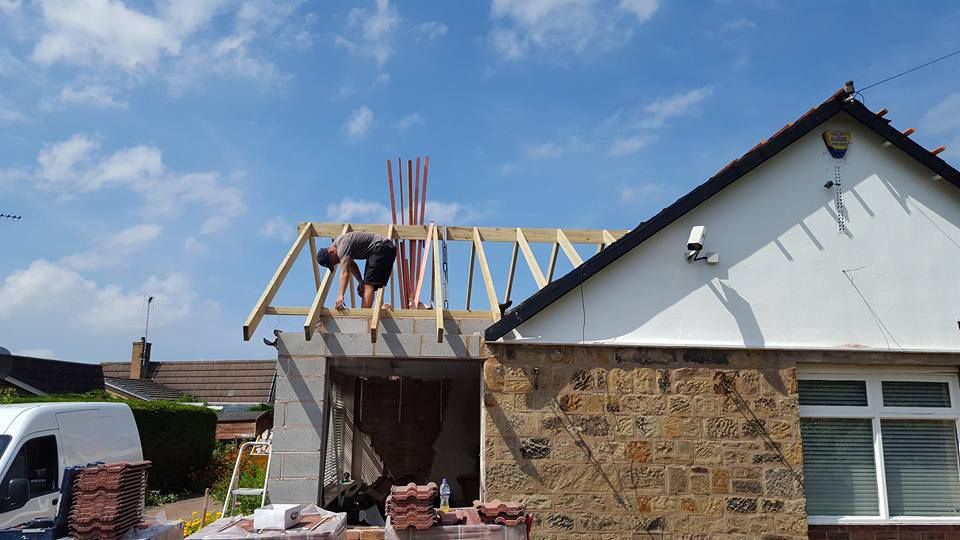
<instances>
[{"instance_id":1,"label":"trimmed dark green hedge behind the white van","mask_svg":"<svg viewBox=\"0 0 960 540\"><path fill-rule=\"evenodd\" d=\"M143 458L153 462L150 489L196 491L203 489L203 475L216 443L217 413L206 407L173 401L128 401L106 392L43 397L0 395L0 403L51 401L109 401L126 403L140 432Z\"/></svg>"}]
</instances>

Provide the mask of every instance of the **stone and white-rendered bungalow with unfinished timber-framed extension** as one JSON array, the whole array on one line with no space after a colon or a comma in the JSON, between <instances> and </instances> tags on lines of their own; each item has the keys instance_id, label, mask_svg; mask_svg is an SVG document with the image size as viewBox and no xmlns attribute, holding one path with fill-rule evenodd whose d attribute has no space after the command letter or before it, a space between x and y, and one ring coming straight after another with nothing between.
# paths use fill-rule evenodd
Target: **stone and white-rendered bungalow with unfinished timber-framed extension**
<instances>
[{"instance_id":1,"label":"stone and white-rendered bungalow with unfinished timber-framed extension","mask_svg":"<svg viewBox=\"0 0 960 540\"><path fill-rule=\"evenodd\" d=\"M960 171L886 114L838 91L629 232L302 223L244 325L305 317L277 341L271 500L444 476L540 538L960 536ZM388 309L393 284L330 310L316 267L309 307L271 305L351 229L469 245L465 309ZM501 315L518 254L538 290Z\"/></svg>"}]
</instances>

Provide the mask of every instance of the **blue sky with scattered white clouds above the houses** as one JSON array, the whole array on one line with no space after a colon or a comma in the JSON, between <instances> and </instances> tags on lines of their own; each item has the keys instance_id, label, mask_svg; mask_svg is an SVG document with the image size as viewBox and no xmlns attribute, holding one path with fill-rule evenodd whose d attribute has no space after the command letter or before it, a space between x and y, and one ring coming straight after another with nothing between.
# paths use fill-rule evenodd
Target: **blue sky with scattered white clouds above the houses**
<instances>
[{"instance_id":1,"label":"blue sky with scattered white clouds above the houses","mask_svg":"<svg viewBox=\"0 0 960 540\"><path fill-rule=\"evenodd\" d=\"M240 328L295 224L382 221L387 158L431 157L444 224L631 228L958 27L953 2L0 0L0 345L126 359L150 294L155 359L269 358ZM955 57L864 99L956 165L958 83ZM309 266L288 280L308 305Z\"/></svg>"}]
</instances>

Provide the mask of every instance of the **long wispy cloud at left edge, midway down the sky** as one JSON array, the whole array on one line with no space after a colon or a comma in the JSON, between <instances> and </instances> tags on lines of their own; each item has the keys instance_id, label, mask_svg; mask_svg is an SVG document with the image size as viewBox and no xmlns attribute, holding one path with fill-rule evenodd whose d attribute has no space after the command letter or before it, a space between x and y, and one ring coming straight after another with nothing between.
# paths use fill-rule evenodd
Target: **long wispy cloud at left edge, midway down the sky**
<instances>
[{"instance_id":1,"label":"long wispy cloud at left edge, midway down the sky","mask_svg":"<svg viewBox=\"0 0 960 540\"><path fill-rule=\"evenodd\" d=\"M222 230L246 211L241 190L213 172L177 173L163 163L160 149L140 145L99 154L100 143L84 134L46 144L33 171L0 171L0 179L24 181L39 191L75 197L107 188L125 188L146 201L148 216L178 215L185 207L207 210L201 233Z\"/></svg>"}]
</instances>

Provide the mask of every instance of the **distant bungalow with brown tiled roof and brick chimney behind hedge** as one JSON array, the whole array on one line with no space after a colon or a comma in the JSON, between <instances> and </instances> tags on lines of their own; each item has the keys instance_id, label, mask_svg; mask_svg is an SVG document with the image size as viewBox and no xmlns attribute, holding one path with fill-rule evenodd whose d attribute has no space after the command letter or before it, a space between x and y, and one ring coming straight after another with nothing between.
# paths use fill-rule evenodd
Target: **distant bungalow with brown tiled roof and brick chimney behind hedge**
<instances>
[{"instance_id":1,"label":"distant bungalow with brown tiled roof and brick chimney behind hedge","mask_svg":"<svg viewBox=\"0 0 960 540\"><path fill-rule=\"evenodd\" d=\"M104 362L103 385L124 399L185 400L217 411L217 439L254 438L273 427L273 413L252 410L273 402L276 362L195 360L155 362L151 343L133 342L130 362Z\"/></svg>"}]
</instances>

